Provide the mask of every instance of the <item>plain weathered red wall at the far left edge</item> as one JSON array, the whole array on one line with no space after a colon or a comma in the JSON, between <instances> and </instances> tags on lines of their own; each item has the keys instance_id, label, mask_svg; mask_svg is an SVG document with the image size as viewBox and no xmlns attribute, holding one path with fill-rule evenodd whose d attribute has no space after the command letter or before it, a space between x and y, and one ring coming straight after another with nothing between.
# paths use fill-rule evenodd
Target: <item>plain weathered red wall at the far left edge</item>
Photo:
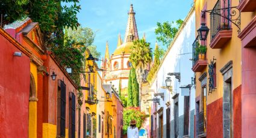
<instances>
[{"instance_id":1,"label":"plain weathered red wall at the far left edge","mask_svg":"<svg viewBox=\"0 0 256 138\"><path fill-rule=\"evenodd\" d=\"M0 28L0 133L1 137L28 137L30 55ZM22 52L22 57L13 56Z\"/></svg>"}]
</instances>

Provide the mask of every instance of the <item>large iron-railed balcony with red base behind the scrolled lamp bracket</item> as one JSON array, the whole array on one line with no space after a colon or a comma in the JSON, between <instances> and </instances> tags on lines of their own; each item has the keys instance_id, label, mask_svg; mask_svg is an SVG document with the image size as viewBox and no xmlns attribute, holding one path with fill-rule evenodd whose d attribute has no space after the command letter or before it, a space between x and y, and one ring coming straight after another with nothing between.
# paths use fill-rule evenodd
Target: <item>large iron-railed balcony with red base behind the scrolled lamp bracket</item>
<instances>
[{"instance_id":1,"label":"large iron-railed balcony with red base behind the scrolled lamp bracket","mask_svg":"<svg viewBox=\"0 0 256 138\"><path fill-rule=\"evenodd\" d=\"M231 15L229 15L231 12L230 8L226 5L229 4L225 4L225 2L223 2L223 7L220 7L220 0L218 0L212 10L214 11L214 14L210 13L210 47L212 49L222 49L222 47L225 46L225 43L232 37L231 22L224 18L228 17L228 19L231 19Z\"/></svg>"}]
</instances>

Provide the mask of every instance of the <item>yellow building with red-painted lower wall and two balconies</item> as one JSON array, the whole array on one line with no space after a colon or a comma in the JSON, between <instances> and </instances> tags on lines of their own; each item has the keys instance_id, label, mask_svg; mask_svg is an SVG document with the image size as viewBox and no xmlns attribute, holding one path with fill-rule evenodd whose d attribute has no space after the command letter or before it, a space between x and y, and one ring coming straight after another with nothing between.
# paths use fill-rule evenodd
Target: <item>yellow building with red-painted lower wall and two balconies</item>
<instances>
[{"instance_id":1,"label":"yellow building with red-painted lower wall and two balconies","mask_svg":"<svg viewBox=\"0 0 256 138\"><path fill-rule=\"evenodd\" d=\"M193 44L198 137L241 137L240 11L232 8L237 5L239 1L195 1L196 30L210 28L206 40L203 32Z\"/></svg>"}]
</instances>

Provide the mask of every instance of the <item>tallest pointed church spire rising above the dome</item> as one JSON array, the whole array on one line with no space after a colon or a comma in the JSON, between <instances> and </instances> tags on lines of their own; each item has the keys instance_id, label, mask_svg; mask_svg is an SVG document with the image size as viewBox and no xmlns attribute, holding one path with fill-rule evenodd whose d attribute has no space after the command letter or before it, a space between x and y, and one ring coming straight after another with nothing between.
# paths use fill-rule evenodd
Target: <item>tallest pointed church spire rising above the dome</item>
<instances>
[{"instance_id":1,"label":"tallest pointed church spire rising above the dome","mask_svg":"<svg viewBox=\"0 0 256 138\"><path fill-rule=\"evenodd\" d=\"M130 6L130 11L128 12L128 15L128 23L125 31L125 43L139 39L135 20L135 11L133 10L133 4L131 4Z\"/></svg>"}]
</instances>

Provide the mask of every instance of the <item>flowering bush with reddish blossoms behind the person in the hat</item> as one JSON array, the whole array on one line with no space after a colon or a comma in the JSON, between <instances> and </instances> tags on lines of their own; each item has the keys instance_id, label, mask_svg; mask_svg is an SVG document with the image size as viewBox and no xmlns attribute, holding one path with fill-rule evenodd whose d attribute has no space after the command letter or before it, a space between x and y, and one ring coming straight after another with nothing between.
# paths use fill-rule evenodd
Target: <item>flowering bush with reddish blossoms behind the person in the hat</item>
<instances>
[{"instance_id":1,"label":"flowering bush with reddish blossoms behind the person in the hat","mask_svg":"<svg viewBox=\"0 0 256 138\"><path fill-rule=\"evenodd\" d=\"M123 110L123 134L127 133L131 119L136 120L136 127L141 128L147 116L145 112L140 111L139 107L127 107Z\"/></svg>"}]
</instances>

